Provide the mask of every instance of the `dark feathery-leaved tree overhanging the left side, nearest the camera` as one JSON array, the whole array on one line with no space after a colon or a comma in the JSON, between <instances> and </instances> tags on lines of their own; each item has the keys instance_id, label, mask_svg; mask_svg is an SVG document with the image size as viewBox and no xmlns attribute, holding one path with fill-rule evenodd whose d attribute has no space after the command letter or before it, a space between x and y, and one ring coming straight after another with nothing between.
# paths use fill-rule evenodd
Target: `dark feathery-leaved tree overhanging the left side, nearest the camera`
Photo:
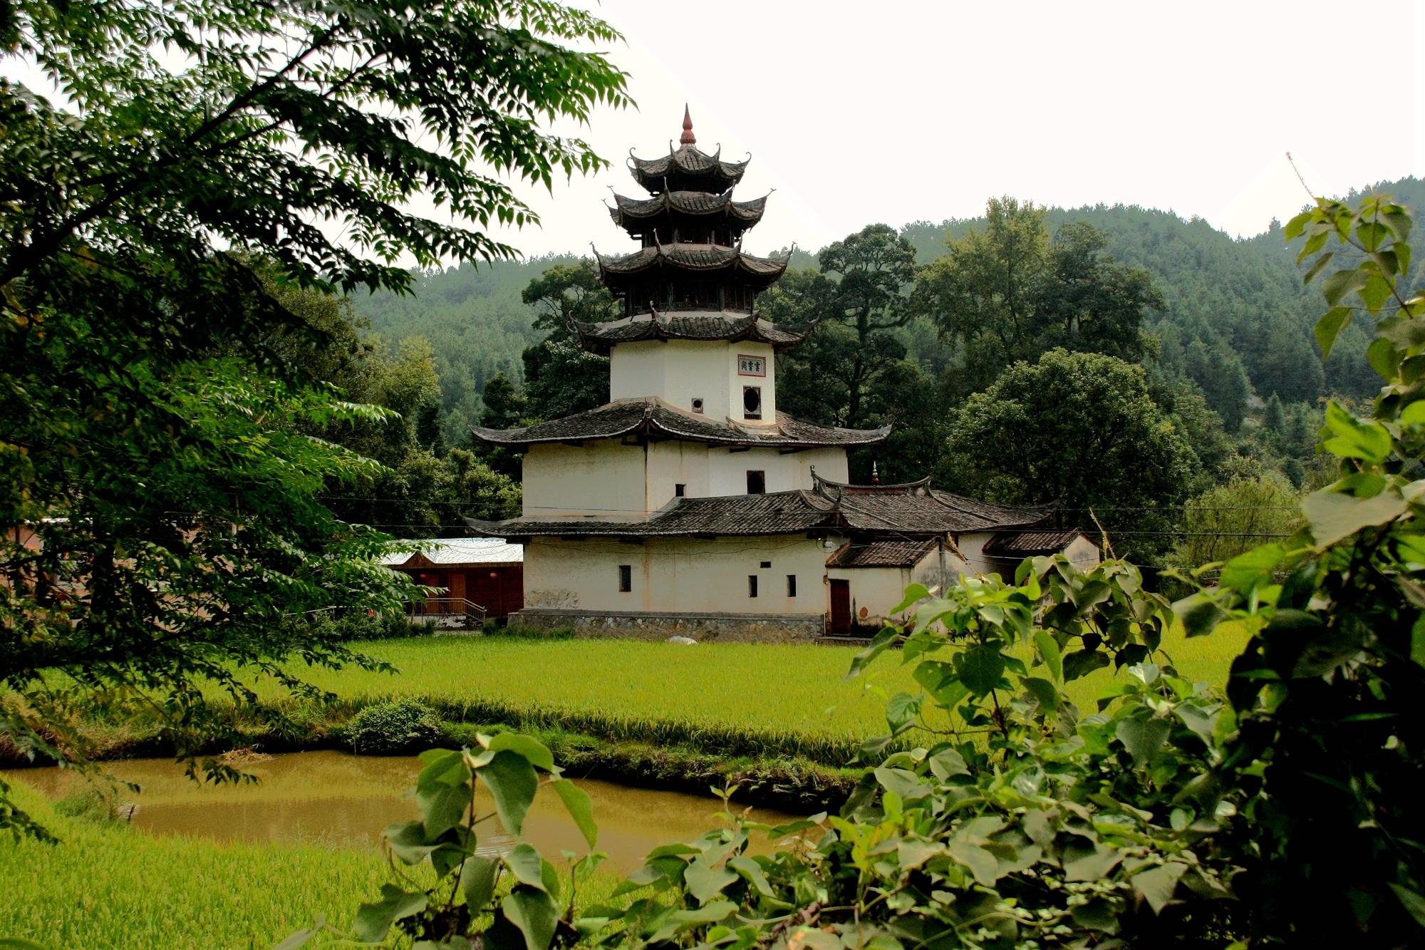
<instances>
[{"instance_id":1,"label":"dark feathery-leaved tree overhanging the left side, nearest the camera","mask_svg":"<svg viewBox=\"0 0 1425 950\"><path fill-rule=\"evenodd\" d=\"M561 46L616 39L536 0L6 7L0 48L64 94L0 80L0 729L21 752L81 757L54 723L95 695L161 698L191 752L225 722L214 685L249 705L254 673L301 690L284 660L352 659L292 615L399 603L383 536L321 501L379 468L305 431L385 411L265 345L319 328L235 251L322 290L510 257L484 225L536 215L490 170L603 165L542 121L627 101Z\"/></svg>"}]
</instances>

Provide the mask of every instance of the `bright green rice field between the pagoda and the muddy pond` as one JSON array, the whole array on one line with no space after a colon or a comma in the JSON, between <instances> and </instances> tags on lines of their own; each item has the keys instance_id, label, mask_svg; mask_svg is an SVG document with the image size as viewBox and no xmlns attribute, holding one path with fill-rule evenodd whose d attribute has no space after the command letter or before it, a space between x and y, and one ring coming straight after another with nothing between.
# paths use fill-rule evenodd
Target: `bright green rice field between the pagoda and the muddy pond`
<instances>
[{"instance_id":1,"label":"bright green rice field between the pagoda and the muddy pond","mask_svg":"<svg viewBox=\"0 0 1425 950\"><path fill-rule=\"evenodd\" d=\"M1237 638L1164 645L1190 679L1221 685ZM352 706L418 698L459 722L537 725L603 739L678 743L748 756L845 765L885 730L885 700L919 692L898 652L846 680L852 650L770 643L677 643L439 636L359 643L398 668L305 670ZM1080 708L1113 679L1103 669L1070 683ZM1123 675L1123 673L1120 673ZM282 702L275 692L268 699Z\"/></svg>"}]
</instances>

